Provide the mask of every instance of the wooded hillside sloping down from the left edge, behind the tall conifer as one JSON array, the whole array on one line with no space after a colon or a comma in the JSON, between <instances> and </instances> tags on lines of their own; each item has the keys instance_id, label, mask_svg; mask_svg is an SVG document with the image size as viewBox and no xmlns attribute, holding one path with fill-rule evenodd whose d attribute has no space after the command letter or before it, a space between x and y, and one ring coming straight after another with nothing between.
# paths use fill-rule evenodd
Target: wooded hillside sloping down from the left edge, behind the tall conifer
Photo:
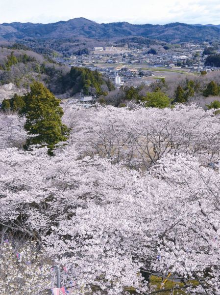
<instances>
[{"instance_id":1,"label":"wooded hillside sloping down from the left edge, behind the tall conifer","mask_svg":"<svg viewBox=\"0 0 220 295\"><path fill-rule=\"evenodd\" d=\"M28 89L34 81L44 82L54 94L103 94L114 89L110 80L85 68L70 68L55 63L22 44L3 46L0 50L0 85L13 83Z\"/></svg>"}]
</instances>

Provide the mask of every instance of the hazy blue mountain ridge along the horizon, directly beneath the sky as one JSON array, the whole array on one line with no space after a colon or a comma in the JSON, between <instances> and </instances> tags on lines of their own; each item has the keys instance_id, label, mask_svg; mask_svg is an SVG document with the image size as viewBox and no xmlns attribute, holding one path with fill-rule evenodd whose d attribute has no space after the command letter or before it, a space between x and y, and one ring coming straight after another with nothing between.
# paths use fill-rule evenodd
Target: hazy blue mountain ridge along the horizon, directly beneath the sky
<instances>
[{"instance_id":1,"label":"hazy blue mountain ridge along the horizon, directly beneath the sky","mask_svg":"<svg viewBox=\"0 0 220 295\"><path fill-rule=\"evenodd\" d=\"M122 37L148 37L166 42L220 41L220 25L132 25L126 22L98 24L85 18L51 24L4 23L0 25L0 38L12 39L117 39Z\"/></svg>"}]
</instances>

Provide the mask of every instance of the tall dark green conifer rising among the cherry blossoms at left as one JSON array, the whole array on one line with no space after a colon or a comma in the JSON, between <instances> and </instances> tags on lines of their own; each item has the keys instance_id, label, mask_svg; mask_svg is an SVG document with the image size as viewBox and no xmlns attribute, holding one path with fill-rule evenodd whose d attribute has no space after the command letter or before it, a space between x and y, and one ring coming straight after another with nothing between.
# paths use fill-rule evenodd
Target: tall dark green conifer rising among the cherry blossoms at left
<instances>
[{"instance_id":1,"label":"tall dark green conifer rising among the cherry blossoms at left","mask_svg":"<svg viewBox=\"0 0 220 295\"><path fill-rule=\"evenodd\" d=\"M25 106L22 110L26 117L24 128L31 135L27 139L26 148L37 144L47 146L52 155L55 146L66 141L69 135L68 127L61 121L63 109L60 100L42 83L34 82L30 90L24 96Z\"/></svg>"}]
</instances>

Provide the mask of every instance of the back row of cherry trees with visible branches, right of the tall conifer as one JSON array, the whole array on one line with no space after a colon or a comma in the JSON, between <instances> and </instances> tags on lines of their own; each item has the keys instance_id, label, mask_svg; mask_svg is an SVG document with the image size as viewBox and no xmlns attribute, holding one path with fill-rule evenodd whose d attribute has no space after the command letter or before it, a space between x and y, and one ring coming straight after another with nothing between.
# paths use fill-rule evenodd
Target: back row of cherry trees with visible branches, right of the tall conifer
<instances>
[{"instance_id":1,"label":"back row of cherry trees with visible branches, right of the tall conifer","mask_svg":"<svg viewBox=\"0 0 220 295\"><path fill-rule=\"evenodd\" d=\"M82 155L98 154L131 168L148 169L176 151L193 152L203 164L217 161L220 154L220 116L196 105L163 110L69 107L64 119Z\"/></svg>"}]
</instances>

